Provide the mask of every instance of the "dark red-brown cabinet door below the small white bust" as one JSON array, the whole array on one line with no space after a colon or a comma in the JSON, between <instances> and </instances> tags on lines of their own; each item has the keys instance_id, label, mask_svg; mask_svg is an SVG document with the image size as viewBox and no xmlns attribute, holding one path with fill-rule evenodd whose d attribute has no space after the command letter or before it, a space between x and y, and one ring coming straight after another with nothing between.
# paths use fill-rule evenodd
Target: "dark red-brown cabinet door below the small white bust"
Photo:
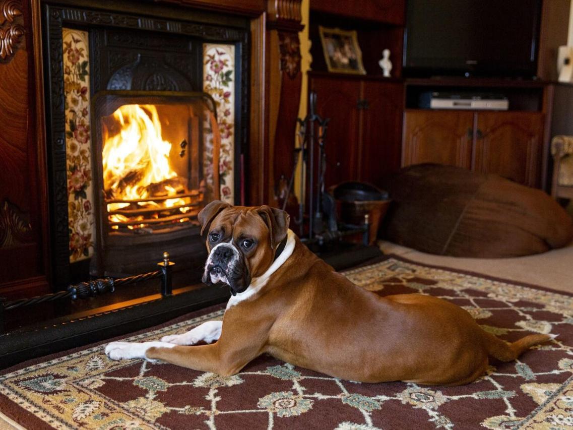
<instances>
[{"instance_id":1,"label":"dark red-brown cabinet door below the small white bust","mask_svg":"<svg viewBox=\"0 0 573 430\"><path fill-rule=\"evenodd\" d=\"M375 185L400 168L403 86L398 83L363 84L362 150L358 179Z\"/></svg>"}]
</instances>

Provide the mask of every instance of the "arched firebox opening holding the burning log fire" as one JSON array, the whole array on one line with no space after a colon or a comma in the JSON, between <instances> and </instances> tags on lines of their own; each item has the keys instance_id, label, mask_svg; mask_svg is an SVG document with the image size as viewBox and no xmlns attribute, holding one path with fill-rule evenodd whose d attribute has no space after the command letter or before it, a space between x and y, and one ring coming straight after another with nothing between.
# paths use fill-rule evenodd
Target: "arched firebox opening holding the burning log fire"
<instances>
[{"instance_id":1,"label":"arched firebox opening holding the burning log fire","mask_svg":"<svg viewBox=\"0 0 573 430\"><path fill-rule=\"evenodd\" d=\"M202 259L197 214L219 198L213 99L105 91L93 106L94 179L101 193L92 275L138 273L157 259L158 249L168 249L183 267L191 255Z\"/></svg>"}]
</instances>

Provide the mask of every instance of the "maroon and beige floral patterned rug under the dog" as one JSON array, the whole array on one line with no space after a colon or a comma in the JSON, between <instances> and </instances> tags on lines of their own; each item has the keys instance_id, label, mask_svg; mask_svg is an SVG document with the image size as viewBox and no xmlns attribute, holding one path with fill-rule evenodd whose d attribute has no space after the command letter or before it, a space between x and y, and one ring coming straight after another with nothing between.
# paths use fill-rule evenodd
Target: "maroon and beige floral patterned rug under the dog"
<instances>
[{"instance_id":1,"label":"maroon and beige floral patterned rug under the dog","mask_svg":"<svg viewBox=\"0 0 573 430\"><path fill-rule=\"evenodd\" d=\"M573 297L392 256L346 275L380 295L421 292L450 300L508 341L528 333L559 337L518 361L493 362L486 376L457 387L360 384L268 356L219 377L166 363L110 361L97 345L7 369L0 375L0 411L29 429L573 426ZM127 339L159 339L222 315L221 307L210 308Z\"/></svg>"}]
</instances>

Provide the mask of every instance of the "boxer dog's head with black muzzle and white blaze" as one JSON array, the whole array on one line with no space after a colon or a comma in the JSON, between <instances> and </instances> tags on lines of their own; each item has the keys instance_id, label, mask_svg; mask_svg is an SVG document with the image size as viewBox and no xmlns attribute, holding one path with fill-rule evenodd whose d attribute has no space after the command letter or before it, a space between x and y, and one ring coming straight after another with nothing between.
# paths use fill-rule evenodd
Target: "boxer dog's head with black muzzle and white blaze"
<instances>
[{"instance_id":1,"label":"boxer dog's head with black muzzle and white blaze","mask_svg":"<svg viewBox=\"0 0 573 430\"><path fill-rule=\"evenodd\" d=\"M198 215L201 234L207 232L209 257L202 281L229 285L231 294L245 291L253 277L261 276L274 260L286 237L289 216L269 206L231 206L213 201Z\"/></svg>"}]
</instances>

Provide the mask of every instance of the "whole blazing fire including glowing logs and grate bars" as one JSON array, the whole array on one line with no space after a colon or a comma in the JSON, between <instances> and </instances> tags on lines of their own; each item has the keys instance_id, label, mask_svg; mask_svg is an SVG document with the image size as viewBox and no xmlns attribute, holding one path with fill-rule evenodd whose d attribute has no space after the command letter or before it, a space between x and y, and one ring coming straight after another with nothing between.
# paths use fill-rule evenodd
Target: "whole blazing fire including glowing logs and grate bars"
<instances>
[{"instance_id":1,"label":"whole blazing fire including glowing logs and grate bars","mask_svg":"<svg viewBox=\"0 0 573 430\"><path fill-rule=\"evenodd\" d=\"M188 213L189 194L180 196L186 192L186 180L170 165L172 144L162 137L157 108L125 104L112 117L119 132L110 127L115 132L111 135L104 126L102 151L105 197L112 201L107 205L109 221L134 230L160 217Z\"/></svg>"}]
</instances>

